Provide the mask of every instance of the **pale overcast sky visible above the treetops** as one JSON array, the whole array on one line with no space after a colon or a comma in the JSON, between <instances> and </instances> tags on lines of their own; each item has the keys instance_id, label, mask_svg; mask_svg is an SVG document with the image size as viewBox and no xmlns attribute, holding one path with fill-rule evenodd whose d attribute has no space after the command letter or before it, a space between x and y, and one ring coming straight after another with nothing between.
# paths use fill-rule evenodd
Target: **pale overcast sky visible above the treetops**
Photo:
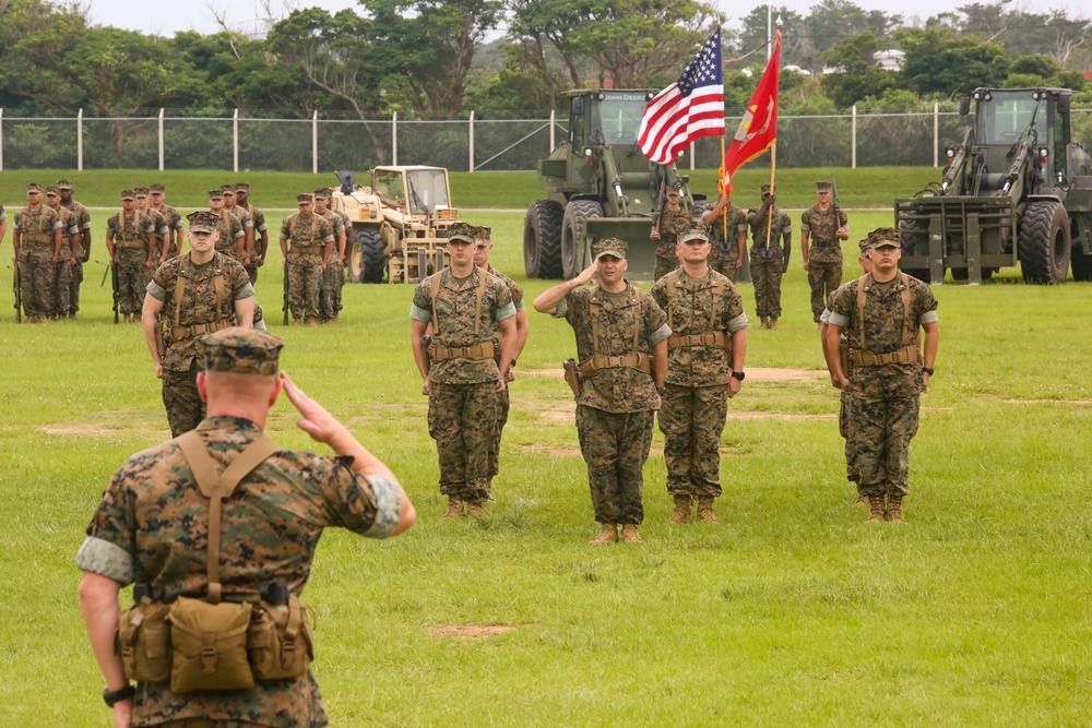
<instances>
[{"instance_id":1,"label":"pale overcast sky visible above the treetops","mask_svg":"<svg viewBox=\"0 0 1092 728\"><path fill-rule=\"evenodd\" d=\"M914 16L924 22L927 17L952 10L963 4L986 0L916 0L912 3L897 0L854 0L855 4L865 10L882 10L886 13L901 13L907 21ZM792 10L807 15L809 9L818 0L783 0L776 5L786 5ZM81 3L84 4L84 3ZM223 16L234 29L252 33L256 27L268 25L269 13L272 10L274 19L284 17L295 8L324 8L336 12L343 8L357 8L355 0L236 0L233 3L224 0L191 0L191 2L135 2L134 0L86 0L93 23L112 25L115 27L141 31L147 34L173 36L178 31L197 31L202 35L216 33L219 25L217 16ZM713 0L714 5L729 17L729 24L735 24L747 15L758 3L733 0ZM1008 7L1023 12L1046 13L1054 9L1065 10L1071 19L1087 19L1090 10L1088 3L1065 2L1059 0L1010 0Z\"/></svg>"}]
</instances>

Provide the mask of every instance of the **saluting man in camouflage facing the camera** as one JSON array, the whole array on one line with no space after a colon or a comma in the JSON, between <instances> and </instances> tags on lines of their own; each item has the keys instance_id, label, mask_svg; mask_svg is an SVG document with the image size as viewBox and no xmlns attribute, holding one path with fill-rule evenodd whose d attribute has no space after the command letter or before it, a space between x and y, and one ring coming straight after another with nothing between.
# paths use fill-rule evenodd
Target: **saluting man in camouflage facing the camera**
<instances>
[{"instance_id":1,"label":"saluting man in camouflage facing the camera","mask_svg":"<svg viewBox=\"0 0 1092 728\"><path fill-rule=\"evenodd\" d=\"M667 314L625 278L624 240L592 243L594 262L571 281L548 288L536 311L563 318L575 334L583 382L577 397L577 433L587 464L595 521L593 545L641 540L641 470L652 445L652 423L667 375ZM598 284L583 284L598 276Z\"/></svg>"}]
</instances>

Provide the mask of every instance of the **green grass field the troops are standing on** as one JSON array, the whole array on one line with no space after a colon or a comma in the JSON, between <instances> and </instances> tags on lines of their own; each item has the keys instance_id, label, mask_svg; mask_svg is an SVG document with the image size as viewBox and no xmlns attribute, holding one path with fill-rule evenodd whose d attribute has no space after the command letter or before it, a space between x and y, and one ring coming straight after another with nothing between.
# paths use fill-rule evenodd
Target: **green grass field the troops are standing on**
<instances>
[{"instance_id":1,"label":"green grass field the troops are standing on","mask_svg":"<svg viewBox=\"0 0 1092 728\"><path fill-rule=\"evenodd\" d=\"M250 177L256 189L284 190L284 206L310 183ZM514 176L473 178L477 199L497 207L534 196L532 186L509 201ZM183 187L162 179L168 194ZM840 184L844 200L851 184ZM0 177L4 200L13 186ZM867 192L850 208L855 232L890 222L858 207L903 193ZM488 206L461 194L461 205ZM529 299L549 285L523 277L522 215L467 217L494 226L494 263L526 284ZM283 367L392 466L418 510L417 525L390 542L331 532L319 548L305 598L334 726L1089 724L1088 284L1009 285L1018 272L1007 271L936 288L940 354L912 451L910 522L866 526L842 477L838 396L797 252L782 330L749 330L749 375L722 438L721 523L665 525L657 432L645 542L594 550L573 404L557 374L573 351L563 322L531 313L491 517L441 523L408 347L412 286L347 286L340 325L285 330L273 258L258 296L287 339ZM102 271L87 267L79 322L17 326L10 305L0 309L4 726L109 720L73 557L110 474L169 434L140 330L111 323ZM10 283L0 268L0 288ZM740 288L753 313L752 289ZM270 434L310 447L293 422L278 403Z\"/></svg>"}]
</instances>

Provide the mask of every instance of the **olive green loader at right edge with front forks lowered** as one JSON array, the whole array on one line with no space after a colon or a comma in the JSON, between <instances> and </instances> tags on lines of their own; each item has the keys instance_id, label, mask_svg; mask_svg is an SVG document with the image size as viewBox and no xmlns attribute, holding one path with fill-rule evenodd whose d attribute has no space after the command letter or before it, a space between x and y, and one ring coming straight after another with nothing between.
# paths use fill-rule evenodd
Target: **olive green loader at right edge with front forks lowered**
<instances>
[{"instance_id":1,"label":"olive green loader at right edge with front forks lowered","mask_svg":"<svg viewBox=\"0 0 1092 728\"><path fill-rule=\"evenodd\" d=\"M1092 157L1072 140L1066 88L976 88L939 183L895 200L900 267L972 284L1020 263L1028 283L1092 279Z\"/></svg>"}]
</instances>

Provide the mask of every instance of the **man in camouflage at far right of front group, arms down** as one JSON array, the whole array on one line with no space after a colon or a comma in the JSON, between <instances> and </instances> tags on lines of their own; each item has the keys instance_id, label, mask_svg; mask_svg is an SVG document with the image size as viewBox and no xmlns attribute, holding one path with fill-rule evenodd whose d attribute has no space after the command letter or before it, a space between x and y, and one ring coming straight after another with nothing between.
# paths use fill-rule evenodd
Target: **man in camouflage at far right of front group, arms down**
<instances>
[{"instance_id":1,"label":"man in camouflage at far right of front group, arms down","mask_svg":"<svg viewBox=\"0 0 1092 728\"><path fill-rule=\"evenodd\" d=\"M868 243L873 272L831 296L827 344L836 354L840 335L848 339L850 377L838 357L831 356L831 366L835 383L852 392L851 434L869 521L903 521L910 441L917 433L921 393L928 386L940 337L937 299L927 285L899 273L898 230L873 230Z\"/></svg>"}]
</instances>

